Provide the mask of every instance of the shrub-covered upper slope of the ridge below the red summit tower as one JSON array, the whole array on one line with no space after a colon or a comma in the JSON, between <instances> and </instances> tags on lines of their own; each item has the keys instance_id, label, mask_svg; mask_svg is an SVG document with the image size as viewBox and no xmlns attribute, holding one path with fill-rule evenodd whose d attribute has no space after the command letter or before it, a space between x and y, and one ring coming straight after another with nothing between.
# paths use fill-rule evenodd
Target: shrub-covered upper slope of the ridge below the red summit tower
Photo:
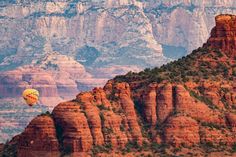
<instances>
[{"instance_id":1,"label":"shrub-covered upper slope of the ridge below the red summit tower","mask_svg":"<svg viewBox=\"0 0 236 157\"><path fill-rule=\"evenodd\" d=\"M145 87L152 82L199 82L200 80L232 80L229 75L231 65L228 61L219 62L219 58L226 57L222 52L207 47L198 48L190 55L172 61L161 67L145 69L139 73L129 72L123 76L115 77L117 82L140 82ZM233 69L232 69L233 70ZM234 72L236 75L236 72Z\"/></svg>"}]
</instances>

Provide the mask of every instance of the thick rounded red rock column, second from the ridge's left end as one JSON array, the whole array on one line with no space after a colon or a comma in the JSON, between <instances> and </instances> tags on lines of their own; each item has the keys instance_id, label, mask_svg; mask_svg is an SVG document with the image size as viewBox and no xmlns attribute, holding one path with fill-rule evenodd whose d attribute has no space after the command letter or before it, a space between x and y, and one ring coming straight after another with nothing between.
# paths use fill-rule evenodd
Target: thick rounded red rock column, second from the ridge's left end
<instances>
[{"instance_id":1,"label":"thick rounded red rock column, second from the ridge's left end","mask_svg":"<svg viewBox=\"0 0 236 157\"><path fill-rule=\"evenodd\" d=\"M52 112L64 149L84 152L92 148L93 139L85 113L77 102L65 102Z\"/></svg>"}]
</instances>

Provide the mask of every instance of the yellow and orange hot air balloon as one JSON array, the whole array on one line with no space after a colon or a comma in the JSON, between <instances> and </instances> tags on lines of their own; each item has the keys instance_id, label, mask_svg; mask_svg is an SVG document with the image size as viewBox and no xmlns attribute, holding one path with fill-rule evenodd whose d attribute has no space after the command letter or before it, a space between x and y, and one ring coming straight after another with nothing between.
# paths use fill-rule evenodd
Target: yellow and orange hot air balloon
<instances>
[{"instance_id":1,"label":"yellow and orange hot air balloon","mask_svg":"<svg viewBox=\"0 0 236 157\"><path fill-rule=\"evenodd\" d=\"M36 89L26 89L22 96L29 106L33 106L38 102L39 92Z\"/></svg>"}]
</instances>

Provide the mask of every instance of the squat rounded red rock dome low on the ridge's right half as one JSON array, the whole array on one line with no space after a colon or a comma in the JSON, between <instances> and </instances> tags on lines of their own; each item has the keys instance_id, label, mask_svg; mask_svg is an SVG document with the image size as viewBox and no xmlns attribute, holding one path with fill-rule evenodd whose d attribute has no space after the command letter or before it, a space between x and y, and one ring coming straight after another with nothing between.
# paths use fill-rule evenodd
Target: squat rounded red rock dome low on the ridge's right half
<instances>
[{"instance_id":1,"label":"squat rounded red rock dome low on the ridge's right half","mask_svg":"<svg viewBox=\"0 0 236 157\"><path fill-rule=\"evenodd\" d=\"M175 146L192 146L200 142L199 126L196 120L177 116L170 118L164 131L165 143Z\"/></svg>"}]
</instances>

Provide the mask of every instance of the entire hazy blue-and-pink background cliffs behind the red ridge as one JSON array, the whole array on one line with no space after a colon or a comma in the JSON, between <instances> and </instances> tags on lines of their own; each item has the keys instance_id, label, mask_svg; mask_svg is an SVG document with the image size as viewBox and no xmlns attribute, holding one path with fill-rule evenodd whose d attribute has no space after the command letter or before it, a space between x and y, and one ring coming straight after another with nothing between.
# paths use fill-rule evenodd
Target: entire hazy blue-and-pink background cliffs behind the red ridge
<instances>
[{"instance_id":1,"label":"entire hazy blue-and-pink background cliffs behind the red ridge","mask_svg":"<svg viewBox=\"0 0 236 157\"><path fill-rule=\"evenodd\" d=\"M51 110L115 75L190 53L207 40L221 13L236 14L236 2L1 1L0 103L7 107L0 109L0 140L20 132L45 105ZM31 87L41 95L37 112L25 112L15 100ZM19 110L13 111L16 105ZM12 119L9 125L3 123L6 117Z\"/></svg>"}]
</instances>

